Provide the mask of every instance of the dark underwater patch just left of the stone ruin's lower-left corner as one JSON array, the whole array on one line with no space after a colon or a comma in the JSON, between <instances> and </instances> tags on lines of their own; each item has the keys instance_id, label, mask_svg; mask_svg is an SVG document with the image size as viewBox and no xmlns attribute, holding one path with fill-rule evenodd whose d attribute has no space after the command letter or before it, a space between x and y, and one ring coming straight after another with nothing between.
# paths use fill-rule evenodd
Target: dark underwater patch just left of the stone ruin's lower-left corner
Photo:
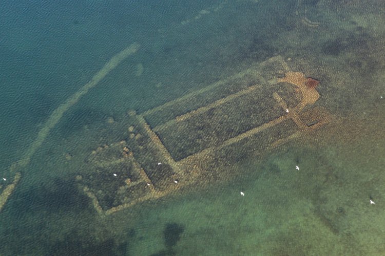
<instances>
[{"instance_id":1,"label":"dark underwater patch just left of the stone ruin's lower-left corner","mask_svg":"<svg viewBox=\"0 0 385 256\"><path fill-rule=\"evenodd\" d=\"M89 207L89 199L79 193L79 188L73 180L56 178L47 186L31 186L17 193L11 201L11 211L23 214L33 211L56 212L83 211Z\"/></svg>"}]
</instances>

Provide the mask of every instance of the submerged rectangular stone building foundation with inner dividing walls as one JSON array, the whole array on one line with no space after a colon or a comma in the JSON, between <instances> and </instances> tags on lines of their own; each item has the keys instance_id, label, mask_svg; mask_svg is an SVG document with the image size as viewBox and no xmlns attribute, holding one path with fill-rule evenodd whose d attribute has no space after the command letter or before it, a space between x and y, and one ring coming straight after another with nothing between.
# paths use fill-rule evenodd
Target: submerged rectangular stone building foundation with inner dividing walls
<instances>
[{"instance_id":1,"label":"submerged rectangular stone building foundation with inner dividing walls","mask_svg":"<svg viewBox=\"0 0 385 256\"><path fill-rule=\"evenodd\" d=\"M131 112L134 131L87 158L80 186L99 214L109 215L315 129L301 113L288 113L302 99L295 86L277 82L288 71L276 56L155 109Z\"/></svg>"}]
</instances>

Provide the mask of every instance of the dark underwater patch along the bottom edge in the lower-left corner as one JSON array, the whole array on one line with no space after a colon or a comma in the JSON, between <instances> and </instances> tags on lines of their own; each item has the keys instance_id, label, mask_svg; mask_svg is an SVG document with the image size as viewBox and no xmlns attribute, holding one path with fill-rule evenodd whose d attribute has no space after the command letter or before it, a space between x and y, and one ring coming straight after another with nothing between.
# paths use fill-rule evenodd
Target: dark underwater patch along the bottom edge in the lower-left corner
<instances>
[{"instance_id":1,"label":"dark underwater patch along the bottom edge in the lower-left corner","mask_svg":"<svg viewBox=\"0 0 385 256\"><path fill-rule=\"evenodd\" d=\"M68 223L69 228L64 239L55 237L57 228L52 223L41 220L41 223L26 225L16 221L14 225L5 227L2 234L7 247L0 246L0 255L127 255L129 241L135 236L133 229L128 229L124 242L110 238L110 234L97 242L95 238L81 230L81 226ZM47 233L51 233L47 236ZM31 253L34 251L35 253Z\"/></svg>"}]
</instances>

